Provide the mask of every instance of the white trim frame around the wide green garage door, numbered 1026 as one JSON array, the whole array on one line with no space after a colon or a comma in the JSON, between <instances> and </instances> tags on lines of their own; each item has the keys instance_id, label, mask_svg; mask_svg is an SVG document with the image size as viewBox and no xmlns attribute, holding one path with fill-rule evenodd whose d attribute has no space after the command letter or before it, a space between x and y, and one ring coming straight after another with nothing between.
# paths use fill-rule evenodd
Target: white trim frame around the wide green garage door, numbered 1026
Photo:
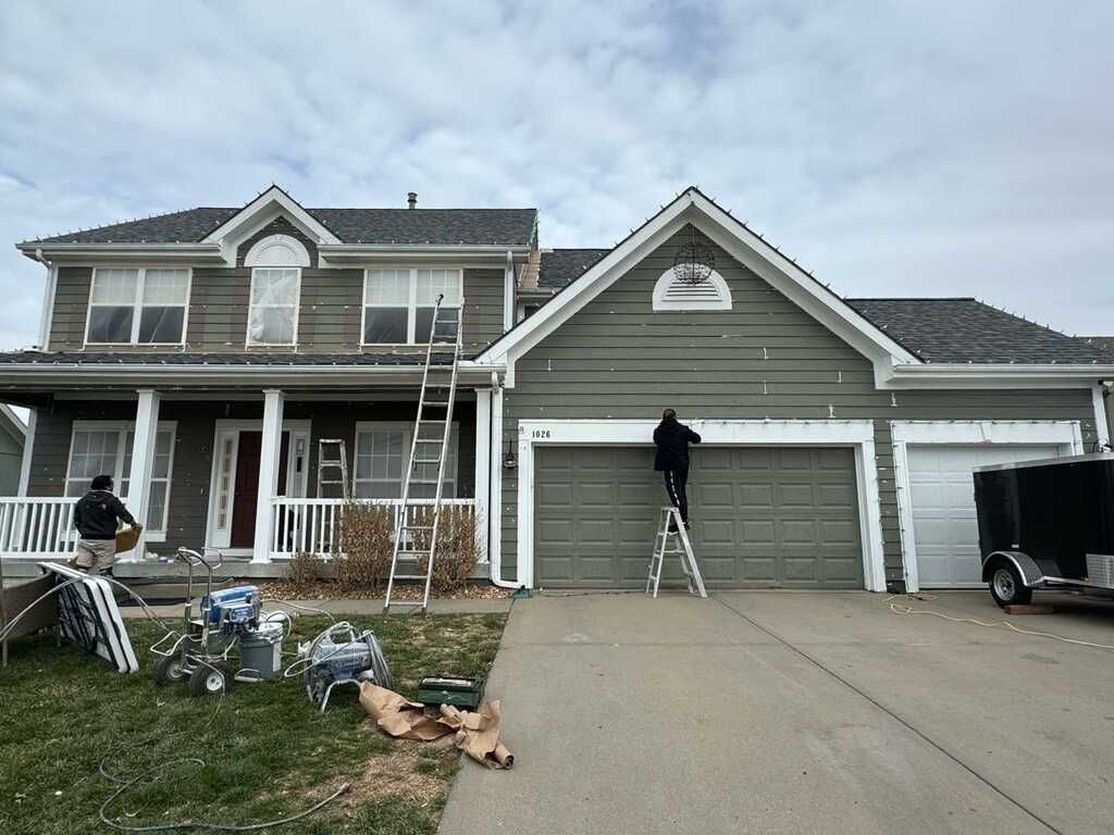
<instances>
[{"instance_id":1,"label":"white trim frame around the wide green garage door, numbered 1026","mask_svg":"<svg viewBox=\"0 0 1114 835\"><path fill-rule=\"evenodd\" d=\"M702 445L850 446L854 450L862 576L868 591L886 591L882 520L873 421L691 421ZM534 587L534 451L539 445L649 446L656 421L518 422L518 578ZM647 472L646 478L654 473ZM664 502L664 497L663 497Z\"/></svg>"}]
</instances>

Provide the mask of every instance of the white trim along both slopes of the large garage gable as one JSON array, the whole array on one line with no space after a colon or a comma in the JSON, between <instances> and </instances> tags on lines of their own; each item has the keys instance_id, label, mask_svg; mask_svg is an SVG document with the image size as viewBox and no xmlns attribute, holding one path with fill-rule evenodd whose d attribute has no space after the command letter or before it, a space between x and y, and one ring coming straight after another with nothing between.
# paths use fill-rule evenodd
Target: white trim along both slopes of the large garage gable
<instances>
[{"instance_id":1,"label":"white trim along both slopes of the large garage gable","mask_svg":"<svg viewBox=\"0 0 1114 835\"><path fill-rule=\"evenodd\" d=\"M821 287L804 271L695 188L685 190L649 218L588 272L526 320L516 332L480 354L477 362L506 362L507 384L512 386L514 364L519 356L549 336L577 311L688 223L829 330L869 356L876 363L876 373L882 373L882 369L877 367L879 365L883 366L888 375L896 364L920 363L919 358L863 318L837 295Z\"/></svg>"}]
</instances>

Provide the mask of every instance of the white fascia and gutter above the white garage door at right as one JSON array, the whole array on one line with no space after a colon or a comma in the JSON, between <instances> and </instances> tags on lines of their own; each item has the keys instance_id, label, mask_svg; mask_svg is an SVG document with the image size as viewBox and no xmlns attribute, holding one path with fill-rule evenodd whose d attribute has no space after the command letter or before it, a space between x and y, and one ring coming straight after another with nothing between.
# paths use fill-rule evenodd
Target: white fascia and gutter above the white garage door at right
<instances>
[{"instance_id":1,"label":"white fascia and gutter above the white garage door at right","mask_svg":"<svg viewBox=\"0 0 1114 835\"><path fill-rule=\"evenodd\" d=\"M1087 389L1114 365L924 363L874 370L878 389Z\"/></svg>"}]
</instances>

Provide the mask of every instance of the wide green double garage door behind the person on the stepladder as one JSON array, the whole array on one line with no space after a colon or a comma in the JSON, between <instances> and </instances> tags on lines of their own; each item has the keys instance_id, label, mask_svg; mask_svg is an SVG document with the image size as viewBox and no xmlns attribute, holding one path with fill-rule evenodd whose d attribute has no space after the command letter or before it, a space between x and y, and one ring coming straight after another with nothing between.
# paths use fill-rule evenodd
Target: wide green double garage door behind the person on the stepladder
<instances>
[{"instance_id":1,"label":"wide green double garage door behind the person on the stepladder","mask_svg":"<svg viewBox=\"0 0 1114 835\"><path fill-rule=\"evenodd\" d=\"M535 574L547 587L646 580L661 473L648 448L541 446ZM706 448L688 477L693 547L710 586L862 588L850 449ZM663 574L680 579L676 566Z\"/></svg>"}]
</instances>

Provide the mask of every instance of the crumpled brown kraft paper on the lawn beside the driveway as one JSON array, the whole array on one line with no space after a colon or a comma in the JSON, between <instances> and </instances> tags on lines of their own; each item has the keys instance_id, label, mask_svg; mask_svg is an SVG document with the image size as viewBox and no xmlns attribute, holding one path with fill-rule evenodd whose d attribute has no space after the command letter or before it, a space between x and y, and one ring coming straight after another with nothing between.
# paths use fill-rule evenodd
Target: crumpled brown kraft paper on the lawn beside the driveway
<instances>
[{"instance_id":1,"label":"crumpled brown kraft paper on the lawn beside the driveway","mask_svg":"<svg viewBox=\"0 0 1114 835\"><path fill-rule=\"evenodd\" d=\"M460 750L488 768L510 768L515 764L515 756L499 741L498 701L485 701L475 713L441 705L437 715L393 690L362 681L360 704L380 728L398 739L428 743L452 734Z\"/></svg>"}]
</instances>

